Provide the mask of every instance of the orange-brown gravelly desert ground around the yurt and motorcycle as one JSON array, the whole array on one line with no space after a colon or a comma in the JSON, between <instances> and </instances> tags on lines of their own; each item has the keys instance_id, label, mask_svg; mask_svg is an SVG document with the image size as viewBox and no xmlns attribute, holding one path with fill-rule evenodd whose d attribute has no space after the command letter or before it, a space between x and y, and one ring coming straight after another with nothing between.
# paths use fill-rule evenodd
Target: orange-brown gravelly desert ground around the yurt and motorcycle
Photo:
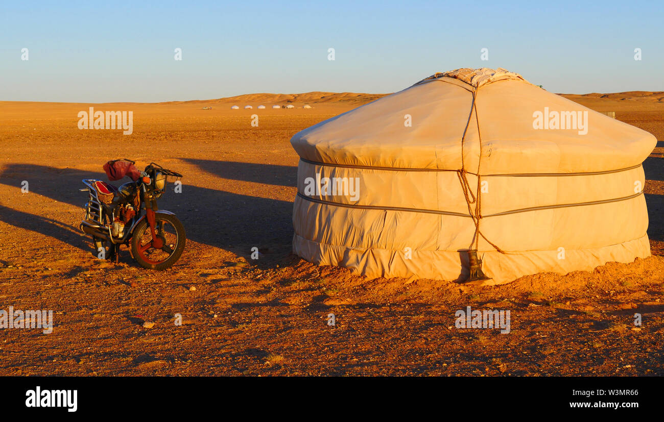
<instances>
[{"instance_id":1,"label":"orange-brown gravelly desert ground around the yurt and motorcycle","mask_svg":"<svg viewBox=\"0 0 664 422\"><path fill-rule=\"evenodd\" d=\"M663 92L566 97L664 140ZM375 98L0 102L0 309L54 313L50 334L0 330L0 375L664 375L663 142L644 163L647 259L468 287L367 280L292 255L291 136ZM90 106L133 111L133 133L78 129L78 112ZM125 247L118 265L97 259L78 232L81 180L106 180L102 165L120 157L184 175L183 191L171 188L159 203L188 238L167 271L139 267ZM454 328L466 306L510 309L511 332Z\"/></svg>"}]
</instances>

